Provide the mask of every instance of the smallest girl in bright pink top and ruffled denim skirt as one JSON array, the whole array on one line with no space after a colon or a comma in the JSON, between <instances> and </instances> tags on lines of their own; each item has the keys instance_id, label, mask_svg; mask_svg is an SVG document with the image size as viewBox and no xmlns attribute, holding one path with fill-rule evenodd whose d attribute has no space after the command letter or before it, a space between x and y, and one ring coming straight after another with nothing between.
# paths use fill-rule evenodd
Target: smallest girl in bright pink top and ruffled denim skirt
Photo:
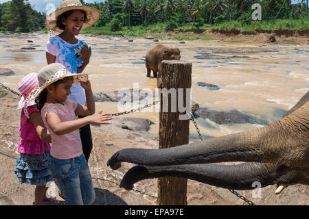
<instances>
[{"instance_id":1,"label":"smallest girl in bright pink top and ruffled denim skirt","mask_svg":"<svg viewBox=\"0 0 309 219\"><path fill-rule=\"evenodd\" d=\"M17 110L24 108L25 98L38 86L38 75L30 73L19 82L18 89L22 94ZM16 160L14 175L19 183L36 185L34 190L34 205L42 205L43 201L56 203L55 198L47 198L46 184L53 181L47 161L49 157L50 135L43 125L41 114L38 112L36 103L27 103L27 116L21 110L21 122L19 123L19 136L21 141L18 145L19 158Z\"/></svg>"}]
</instances>

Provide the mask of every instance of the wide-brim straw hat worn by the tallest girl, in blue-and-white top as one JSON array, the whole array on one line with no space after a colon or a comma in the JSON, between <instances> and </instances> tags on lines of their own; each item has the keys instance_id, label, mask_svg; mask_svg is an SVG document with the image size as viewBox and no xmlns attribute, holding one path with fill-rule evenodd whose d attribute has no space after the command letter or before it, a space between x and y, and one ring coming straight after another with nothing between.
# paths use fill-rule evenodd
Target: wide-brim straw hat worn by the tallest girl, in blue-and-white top
<instances>
[{"instance_id":1,"label":"wide-brim straw hat worn by the tallest girl, in blue-and-white top","mask_svg":"<svg viewBox=\"0 0 309 219\"><path fill-rule=\"evenodd\" d=\"M87 23L82 25L82 29L92 26L100 18L100 11L88 6L82 5L78 0L64 0L60 3L57 10L49 14L45 20L46 27L52 31L62 32L63 29L59 29L56 25L57 18L60 14L69 10L84 10L87 14Z\"/></svg>"}]
</instances>

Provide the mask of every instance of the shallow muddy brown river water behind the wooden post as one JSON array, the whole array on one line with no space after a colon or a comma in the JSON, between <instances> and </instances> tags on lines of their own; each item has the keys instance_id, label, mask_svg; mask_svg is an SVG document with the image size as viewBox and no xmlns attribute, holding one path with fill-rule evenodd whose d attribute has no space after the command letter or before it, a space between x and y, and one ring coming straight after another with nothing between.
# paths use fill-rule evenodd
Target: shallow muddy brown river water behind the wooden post
<instances>
[{"instance_id":1,"label":"shallow muddy brown river water behind the wooden post","mask_svg":"<svg viewBox=\"0 0 309 219\"><path fill-rule=\"evenodd\" d=\"M0 68L10 68L15 73L0 76L0 82L17 90L22 77L45 66L48 38L48 34L41 32L0 34ZM238 110L271 123L309 91L309 44L217 40L180 44L179 40L154 42L145 38L133 38L133 42L128 42L130 37L80 35L78 38L92 48L91 62L84 73L89 74L93 93L133 86L155 92L157 80L146 77L144 57L157 44L178 47L181 60L192 62L192 100L200 107L217 111ZM36 49L21 50L30 45ZM219 89L198 86L198 82L211 83ZM149 103L154 100L148 99ZM117 102L96 103L96 107L111 113L124 110ZM150 109L125 116L150 119L155 123L150 132L158 133L159 113L155 108ZM211 121L205 118L197 118L197 123L203 135L215 137L262 127L259 124L210 124ZM196 136L193 124L190 125L190 136Z\"/></svg>"}]
</instances>

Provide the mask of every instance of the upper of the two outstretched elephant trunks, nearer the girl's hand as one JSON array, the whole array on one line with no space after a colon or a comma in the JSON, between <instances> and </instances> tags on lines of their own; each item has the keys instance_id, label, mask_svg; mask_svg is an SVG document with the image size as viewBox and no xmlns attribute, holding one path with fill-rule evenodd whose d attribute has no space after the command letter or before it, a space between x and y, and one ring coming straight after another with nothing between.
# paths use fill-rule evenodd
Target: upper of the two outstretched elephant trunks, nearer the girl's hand
<instances>
[{"instance_id":1,"label":"upper of the two outstretched elephant trunks, nearer the girl's hand","mask_svg":"<svg viewBox=\"0 0 309 219\"><path fill-rule=\"evenodd\" d=\"M143 166L216 162L306 165L309 164L308 109L309 102L271 125L203 142L168 149L124 149L115 153L107 165L112 169L119 168L121 162Z\"/></svg>"}]
</instances>

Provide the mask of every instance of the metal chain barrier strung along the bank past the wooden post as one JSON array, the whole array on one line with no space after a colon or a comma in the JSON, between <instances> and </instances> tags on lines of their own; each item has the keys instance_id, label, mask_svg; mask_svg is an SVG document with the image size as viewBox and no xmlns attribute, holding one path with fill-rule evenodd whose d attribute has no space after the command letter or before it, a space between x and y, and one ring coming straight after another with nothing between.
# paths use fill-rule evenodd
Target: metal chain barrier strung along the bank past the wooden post
<instances>
[{"instance_id":1,"label":"metal chain barrier strung along the bank past the wooden post","mask_svg":"<svg viewBox=\"0 0 309 219\"><path fill-rule=\"evenodd\" d=\"M10 88L6 87L3 85L3 83L0 83L0 86L5 88L6 90L9 90L10 92L12 92L13 94L16 94L17 96L21 96L21 94L19 94L18 92L14 91L14 90L11 90ZM133 112L137 112L137 111L141 111L141 110L144 110L145 108L147 107L151 107L152 105L156 105L157 103L159 103L160 101L154 101L153 103L149 103L147 105L144 105L144 107L138 107L137 109L135 110L128 110L128 111L124 111L124 112L117 112L115 114L112 114L112 116L120 116L120 115L124 115L124 114L130 114L130 113L133 113ZM194 119L194 116L192 114L192 112L190 113L187 113L187 115L189 116L190 120L192 120L195 128L196 128L196 131L198 133L198 138L201 139L201 141L203 141L203 138L202 138L202 135L201 135L201 131L200 129L198 129L198 126L196 124L196 120ZM248 200L247 198L245 198L244 196L242 196L241 194L239 194L238 192L236 192L235 190L231 190L229 189L229 191L233 194L235 194L236 196L238 196L238 198L242 199L243 201L247 202L249 205L255 205L255 203L253 203L252 201Z\"/></svg>"}]
</instances>

